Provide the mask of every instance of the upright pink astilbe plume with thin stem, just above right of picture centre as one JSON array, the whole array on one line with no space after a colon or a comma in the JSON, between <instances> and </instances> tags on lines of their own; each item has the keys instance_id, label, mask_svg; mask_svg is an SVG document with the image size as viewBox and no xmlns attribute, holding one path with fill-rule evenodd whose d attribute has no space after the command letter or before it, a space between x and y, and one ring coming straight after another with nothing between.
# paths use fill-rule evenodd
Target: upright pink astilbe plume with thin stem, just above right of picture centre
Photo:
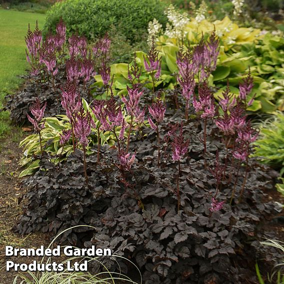
<instances>
[{"instance_id":1,"label":"upright pink astilbe plume with thin stem, just above right of picture centre","mask_svg":"<svg viewBox=\"0 0 284 284\"><path fill-rule=\"evenodd\" d=\"M150 127L157 132L157 148L158 148L158 156L157 156L157 164L159 166L160 163L160 137L159 137L159 123L164 118L166 106L162 102L160 95L156 97L156 101L153 102L151 105L148 105L148 111L150 116L148 116L148 122ZM153 121L155 120L155 122Z\"/></svg>"}]
</instances>

